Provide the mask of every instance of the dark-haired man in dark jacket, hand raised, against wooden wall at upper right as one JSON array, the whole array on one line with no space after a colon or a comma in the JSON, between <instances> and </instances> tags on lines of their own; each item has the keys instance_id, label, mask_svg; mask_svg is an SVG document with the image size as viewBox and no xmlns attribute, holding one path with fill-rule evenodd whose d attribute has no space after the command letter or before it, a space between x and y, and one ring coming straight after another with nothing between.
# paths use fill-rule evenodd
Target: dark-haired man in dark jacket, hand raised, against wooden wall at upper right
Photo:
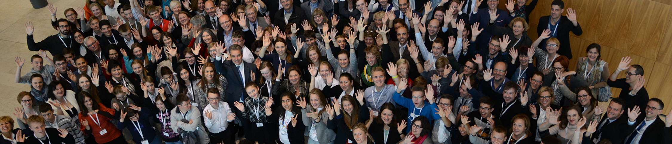
<instances>
[{"instance_id":1,"label":"dark-haired man in dark jacket, hand raised, against wooden wall at upper right","mask_svg":"<svg viewBox=\"0 0 672 144\"><path fill-rule=\"evenodd\" d=\"M569 31L572 31L575 35L581 35L583 30L581 30L581 25L577 22L577 15L573 9L567 9L567 16L560 15L564 11L564 2L562 0L555 0L550 5L550 15L539 18L537 35L542 35L544 29L549 29L551 32L550 37L557 38L560 41L558 54L566 56L571 60L572 48L569 44ZM546 50L546 40L541 42L539 48Z\"/></svg>"}]
</instances>

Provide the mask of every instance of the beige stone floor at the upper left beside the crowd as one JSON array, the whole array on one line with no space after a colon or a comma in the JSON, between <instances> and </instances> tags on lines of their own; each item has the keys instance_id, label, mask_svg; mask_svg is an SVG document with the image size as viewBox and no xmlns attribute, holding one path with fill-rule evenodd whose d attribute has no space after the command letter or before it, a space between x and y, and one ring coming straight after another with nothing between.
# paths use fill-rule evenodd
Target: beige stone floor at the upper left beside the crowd
<instances>
[{"instance_id":1,"label":"beige stone floor at the upper left beside the crowd","mask_svg":"<svg viewBox=\"0 0 672 144\"><path fill-rule=\"evenodd\" d=\"M14 108L20 106L16 101L19 92L29 91L28 84L14 83L16 72L15 56L26 60L22 74L30 71L30 56L37 54L26 46L26 21L32 21L33 33L37 42L49 35L58 33L51 27L51 13L46 7L33 9L28 0L0 0L0 116L11 116ZM70 7L82 7L83 0L49 0L58 7L56 17L65 18L63 11Z\"/></svg>"}]
</instances>

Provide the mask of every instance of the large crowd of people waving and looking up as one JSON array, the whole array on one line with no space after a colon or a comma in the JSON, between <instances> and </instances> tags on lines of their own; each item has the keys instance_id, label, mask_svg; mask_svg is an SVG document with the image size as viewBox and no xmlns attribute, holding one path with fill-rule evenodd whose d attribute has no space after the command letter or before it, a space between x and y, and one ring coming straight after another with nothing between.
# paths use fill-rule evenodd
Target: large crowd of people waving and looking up
<instances>
[{"instance_id":1,"label":"large crowd of people waving and looking up","mask_svg":"<svg viewBox=\"0 0 672 144\"><path fill-rule=\"evenodd\" d=\"M532 40L538 0L499 2L50 4L0 143L672 143L642 66L590 44L569 70L575 9L553 0Z\"/></svg>"}]
</instances>

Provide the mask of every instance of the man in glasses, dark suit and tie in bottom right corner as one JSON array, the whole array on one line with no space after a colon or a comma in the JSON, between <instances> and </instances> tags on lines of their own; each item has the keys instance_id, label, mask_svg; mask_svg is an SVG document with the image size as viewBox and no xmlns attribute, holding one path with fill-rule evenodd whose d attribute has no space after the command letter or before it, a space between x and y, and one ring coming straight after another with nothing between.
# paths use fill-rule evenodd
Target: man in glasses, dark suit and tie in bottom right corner
<instances>
[{"instance_id":1,"label":"man in glasses, dark suit and tie in bottom right corner","mask_svg":"<svg viewBox=\"0 0 672 144\"><path fill-rule=\"evenodd\" d=\"M666 125L666 122L663 122L663 120L658 118L658 115L663 112L664 106L665 104L663 104L661 99L649 99L645 110L646 117L640 119L640 121L638 121L639 123L637 123L638 125L630 126L636 127L636 129L626 137L625 144L672 143L669 125ZM670 119L672 119L672 117L669 119L666 118L667 121Z\"/></svg>"}]
</instances>

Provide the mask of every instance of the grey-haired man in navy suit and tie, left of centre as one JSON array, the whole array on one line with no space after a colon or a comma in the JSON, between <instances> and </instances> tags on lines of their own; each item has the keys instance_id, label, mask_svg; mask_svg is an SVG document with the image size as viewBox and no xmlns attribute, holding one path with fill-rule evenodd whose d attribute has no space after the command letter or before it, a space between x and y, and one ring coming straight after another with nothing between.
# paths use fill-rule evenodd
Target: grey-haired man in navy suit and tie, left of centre
<instances>
[{"instance_id":1,"label":"grey-haired man in navy suit and tie, left of centre","mask_svg":"<svg viewBox=\"0 0 672 144\"><path fill-rule=\"evenodd\" d=\"M245 92L245 84L253 82L250 77L253 73L255 78L260 78L261 73L257 70L255 64L243 61L243 50L239 45L232 45L228 48L230 60L221 60L221 52L217 54L217 59L214 67L217 72L224 76L228 81L226 87L226 102L229 106L234 106L233 102L243 102L247 98ZM223 61L223 62L222 62Z\"/></svg>"}]
</instances>

